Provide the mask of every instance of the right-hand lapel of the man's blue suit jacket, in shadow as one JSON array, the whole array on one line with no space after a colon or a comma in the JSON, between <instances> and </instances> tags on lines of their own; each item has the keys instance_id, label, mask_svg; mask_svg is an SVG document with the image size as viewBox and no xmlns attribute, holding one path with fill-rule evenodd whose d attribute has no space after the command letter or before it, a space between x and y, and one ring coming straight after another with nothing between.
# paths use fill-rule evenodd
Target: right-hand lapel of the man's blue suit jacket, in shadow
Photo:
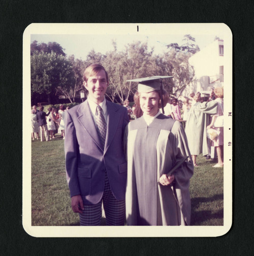
<instances>
[{"instance_id":1,"label":"right-hand lapel of the man's blue suit jacket, in shadow","mask_svg":"<svg viewBox=\"0 0 254 256\"><path fill-rule=\"evenodd\" d=\"M120 118L120 114L115 108L115 105L110 101L107 101L107 112L108 112L108 129L107 129L107 136L106 136L106 142L105 142L105 153L108 150L109 145L114 138L114 135L118 126L119 118Z\"/></svg>"}]
</instances>

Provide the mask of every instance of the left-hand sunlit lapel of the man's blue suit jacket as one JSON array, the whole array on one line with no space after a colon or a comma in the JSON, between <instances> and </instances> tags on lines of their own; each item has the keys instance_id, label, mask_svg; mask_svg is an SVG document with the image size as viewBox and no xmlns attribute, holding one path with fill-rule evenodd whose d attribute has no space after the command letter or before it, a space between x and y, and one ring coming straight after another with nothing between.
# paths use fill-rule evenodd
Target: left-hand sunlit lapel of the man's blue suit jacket
<instances>
[{"instance_id":1,"label":"left-hand sunlit lapel of the man's blue suit jacket","mask_svg":"<svg viewBox=\"0 0 254 256\"><path fill-rule=\"evenodd\" d=\"M101 146L101 143L97 134L96 126L95 126L92 113L90 111L87 100L80 105L80 108L78 110L78 120L85 127L87 133L91 136L91 138L94 140L97 146L101 149L101 151L104 151ZM84 143L86 142L84 141Z\"/></svg>"}]
</instances>

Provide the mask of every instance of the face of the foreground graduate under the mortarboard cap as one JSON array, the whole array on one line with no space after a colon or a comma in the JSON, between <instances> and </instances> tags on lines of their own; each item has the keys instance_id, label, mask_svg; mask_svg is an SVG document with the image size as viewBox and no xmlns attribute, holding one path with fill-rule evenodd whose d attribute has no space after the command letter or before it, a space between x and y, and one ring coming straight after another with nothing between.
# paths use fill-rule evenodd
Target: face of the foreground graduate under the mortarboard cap
<instances>
[{"instance_id":1,"label":"face of the foreground graduate under the mortarboard cap","mask_svg":"<svg viewBox=\"0 0 254 256\"><path fill-rule=\"evenodd\" d=\"M145 115L155 116L158 113L160 101L158 92L141 93L139 101L140 108Z\"/></svg>"}]
</instances>

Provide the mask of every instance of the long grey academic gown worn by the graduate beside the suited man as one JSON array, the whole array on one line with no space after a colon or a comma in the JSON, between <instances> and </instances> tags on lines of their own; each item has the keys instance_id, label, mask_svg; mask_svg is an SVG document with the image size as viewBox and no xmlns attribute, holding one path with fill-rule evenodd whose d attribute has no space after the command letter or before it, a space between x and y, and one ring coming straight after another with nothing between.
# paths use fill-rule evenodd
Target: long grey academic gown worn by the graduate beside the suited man
<instances>
[{"instance_id":1,"label":"long grey academic gown worn by the graduate beside the suited man","mask_svg":"<svg viewBox=\"0 0 254 256\"><path fill-rule=\"evenodd\" d=\"M125 135L127 225L189 225L193 163L182 124L160 114L147 126L140 117L129 123ZM186 156L189 161L173 173L175 184L158 185L162 174Z\"/></svg>"}]
</instances>

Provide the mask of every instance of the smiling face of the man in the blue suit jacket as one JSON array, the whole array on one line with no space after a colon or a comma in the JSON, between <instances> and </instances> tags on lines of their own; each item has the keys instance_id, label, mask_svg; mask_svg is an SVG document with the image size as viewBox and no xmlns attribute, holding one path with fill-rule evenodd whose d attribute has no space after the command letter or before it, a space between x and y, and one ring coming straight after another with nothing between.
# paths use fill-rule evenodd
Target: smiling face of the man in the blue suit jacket
<instances>
[{"instance_id":1,"label":"smiling face of the man in the blue suit jacket","mask_svg":"<svg viewBox=\"0 0 254 256\"><path fill-rule=\"evenodd\" d=\"M97 104L103 102L108 87L105 71L100 70L96 75L89 76L87 82L84 82L84 86L92 101Z\"/></svg>"}]
</instances>

